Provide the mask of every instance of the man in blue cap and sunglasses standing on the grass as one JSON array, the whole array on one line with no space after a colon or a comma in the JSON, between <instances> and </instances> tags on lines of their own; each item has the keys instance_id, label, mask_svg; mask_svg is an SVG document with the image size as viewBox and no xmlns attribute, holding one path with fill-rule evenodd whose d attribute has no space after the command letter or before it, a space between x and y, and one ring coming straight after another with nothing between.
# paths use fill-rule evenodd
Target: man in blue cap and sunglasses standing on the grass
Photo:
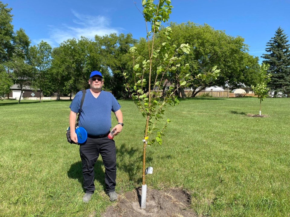
<instances>
[{"instance_id":1,"label":"man in blue cap and sunglasses standing on the grass","mask_svg":"<svg viewBox=\"0 0 290 217\"><path fill-rule=\"evenodd\" d=\"M94 165L101 154L105 166L106 193L111 201L117 200L116 186L116 147L114 140L108 138L111 128L111 111L114 112L118 124L112 128L114 135L118 135L123 128L121 106L115 97L102 90L103 76L99 71L92 71L89 78L90 89L86 90L85 100L79 116L79 127L84 127L88 133L85 143L80 144L79 153L82 160L82 174L85 195L83 202L88 203L95 191ZM69 108L69 127L71 139L78 142L75 133L76 115L80 109L82 91L79 91Z\"/></svg>"}]
</instances>

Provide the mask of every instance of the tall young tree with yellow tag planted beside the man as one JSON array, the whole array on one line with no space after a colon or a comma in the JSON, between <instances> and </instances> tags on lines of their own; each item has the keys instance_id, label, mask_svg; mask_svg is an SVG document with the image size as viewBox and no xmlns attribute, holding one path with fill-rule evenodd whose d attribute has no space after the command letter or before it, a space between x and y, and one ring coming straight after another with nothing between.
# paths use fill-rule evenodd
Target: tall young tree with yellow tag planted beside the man
<instances>
[{"instance_id":1,"label":"tall young tree with yellow tag planted beside the man","mask_svg":"<svg viewBox=\"0 0 290 217\"><path fill-rule=\"evenodd\" d=\"M141 60L136 58L136 47L130 48L130 52L133 55L133 72L132 76L128 76L124 73L127 80L125 84L128 92L134 99L139 111L146 119L144 137L143 137L143 170L142 170L142 192L145 185L145 156L146 147L148 144L158 143L162 144L162 136L166 131L166 126L169 123L167 119L163 127L158 128L158 122L163 119L166 105L177 105L179 103L175 96L176 89L174 90L175 83L178 86L184 87L187 83L193 79L189 76L188 64L181 64L182 54L188 54L190 48L188 44L181 44L179 47L171 45L169 43L171 28L166 27L166 31L163 32L163 40L158 40L156 43L156 33L160 29L162 22L166 22L169 19L171 13L171 1L159 0L157 4L154 4L153 0L143 0L143 17L145 18L146 30L147 30L147 58ZM148 30L147 24L151 24L150 30ZM151 38L151 40L150 40ZM216 67L209 74L199 74L197 78L217 77L219 70ZM167 74L175 74L175 83L169 87L169 90L161 98L162 92L160 87L164 82L164 78ZM152 90L156 91L152 91ZM146 92L145 92L146 90ZM148 90L148 91L147 91ZM141 208L146 207L143 200L143 193L141 199Z\"/></svg>"}]
</instances>

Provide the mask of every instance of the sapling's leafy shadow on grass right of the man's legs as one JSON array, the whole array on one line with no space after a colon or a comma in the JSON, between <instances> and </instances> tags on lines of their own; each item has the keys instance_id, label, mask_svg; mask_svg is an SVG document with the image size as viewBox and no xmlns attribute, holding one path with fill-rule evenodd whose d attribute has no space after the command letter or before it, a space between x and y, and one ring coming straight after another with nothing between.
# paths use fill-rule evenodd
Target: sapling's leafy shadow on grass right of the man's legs
<instances>
[{"instance_id":1,"label":"sapling's leafy shadow on grass right of the man's legs","mask_svg":"<svg viewBox=\"0 0 290 217\"><path fill-rule=\"evenodd\" d=\"M136 173L140 173L143 167L143 152L142 149L129 148L125 143L117 147L117 168L125 171L129 180L135 183L140 183L142 177L136 178ZM152 161L152 157L146 156L146 162Z\"/></svg>"}]
</instances>

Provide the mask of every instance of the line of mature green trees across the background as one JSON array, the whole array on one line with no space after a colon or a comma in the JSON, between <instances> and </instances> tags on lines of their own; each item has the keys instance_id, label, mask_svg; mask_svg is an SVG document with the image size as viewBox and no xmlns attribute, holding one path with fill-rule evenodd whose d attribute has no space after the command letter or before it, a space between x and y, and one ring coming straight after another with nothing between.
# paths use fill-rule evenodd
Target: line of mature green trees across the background
<instances>
[{"instance_id":1,"label":"line of mature green trees across the background","mask_svg":"<svg viewBox=\"0 0 290 217\"><path fill-rule=\"evenodd\" d=\"M94 70L102 72L105 90L112 91L117 98L129 97L123 77L123 73L129 76L132 74L133 62L129 49L132 46L137 47L141 59L148 59L148 45L144 38L137 40L130 33L120 35L113 33L105 36L96 35L94 40L85 37L67 39L53 49L43 41L31 46L31 41L23 29L14 32L11 10L12 8L7 8L7 4L0 2L0 97L5 96L10 91L10 86L16 83L21 93L23 87L29 85L35 90L39 89L44 96L57 93L59 99L60 96L88 88L89 73ZM189 73L192 76L206 74L214 65L221 69L218 80L192 81L189 85L193 89L192 97L195 96L198 87L200 91L211 85L240 87L256 85L259 82L259 59L249 55L248 45L244 43L242 37L229 36L224 31L214 30L207 24L188 22L170 23L169 26L172 28L172 44L180 46L181 43L188 43L191 47L191 51L182 57L182 61L190 64ZM164 31L165 28L162 28L157 33L156 40L159 43L164 41L164 37L169 37ZM272 91L276 91L275 93L287 94L290 90L289 45L285 34L283 35L283 32L281 34L279 37L284 37L282 44L285 45L281 54L285 64L280 67L285 69L283 76L281 70L273 66L273 62L275 64L276 61L272 61L271 67L271 63L267 60L272 58L271 54L264 55L263 58L270 65L272 71L269 73L274 74L272 76L274 80L280 82L279 85L269 83L269 87ZM275 42L269 43L272 43L269 44L271 47ZM274 51L268 48L266 52ZM153 66L155 73L157 67ZM176 79L174 72L167 73L166 76L166 82ZM174 88L177 90L177 96L181 94L185 97L183 88L178 84Z\"/></svg>"}]
</instances>

